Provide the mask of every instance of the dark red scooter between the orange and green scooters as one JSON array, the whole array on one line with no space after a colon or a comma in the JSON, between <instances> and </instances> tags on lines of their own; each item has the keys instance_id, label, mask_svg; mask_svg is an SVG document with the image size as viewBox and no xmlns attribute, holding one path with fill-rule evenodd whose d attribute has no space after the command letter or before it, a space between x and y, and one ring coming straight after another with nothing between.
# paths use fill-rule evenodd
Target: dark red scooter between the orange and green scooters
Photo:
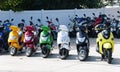
<instances>
[{"instance_id":1,"label":"dark red scooter between the orange and green scooters","mask_svg":"<svg viewBox=\"0 0 120 72\"><path fill-rule=\"evenodd\" d=\"M24 47L26 48L26 56L30 57L37 50L38 39L32 26L26 26L25 28Z\"/></svg>"}]
</instances>

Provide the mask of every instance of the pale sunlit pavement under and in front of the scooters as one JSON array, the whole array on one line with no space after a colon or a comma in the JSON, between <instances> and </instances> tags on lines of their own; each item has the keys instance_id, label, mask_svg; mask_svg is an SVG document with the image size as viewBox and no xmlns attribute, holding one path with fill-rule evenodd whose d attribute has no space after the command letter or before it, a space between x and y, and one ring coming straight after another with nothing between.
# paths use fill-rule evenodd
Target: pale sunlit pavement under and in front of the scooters
<instances>
[{"instance_id":1,"label":"pale sunlit pavement under and in front of the scooters","mask_svg":"<svg viewBox=\"0 0 120 72\"><path fill-rule=\"evenodd\" d=\"M10 56L0 55L0 72L118 72L120 71L120 39L115 39L115 50L112 64L101 61L100 54L95 51L95 38L90 38L90 53L86 61L77 58L75 39L71 39L71 50L66 60L59 59L56 41L48 58L42 58L40 51L32 57L24 53Z\"/></svg>"}]
</instances>

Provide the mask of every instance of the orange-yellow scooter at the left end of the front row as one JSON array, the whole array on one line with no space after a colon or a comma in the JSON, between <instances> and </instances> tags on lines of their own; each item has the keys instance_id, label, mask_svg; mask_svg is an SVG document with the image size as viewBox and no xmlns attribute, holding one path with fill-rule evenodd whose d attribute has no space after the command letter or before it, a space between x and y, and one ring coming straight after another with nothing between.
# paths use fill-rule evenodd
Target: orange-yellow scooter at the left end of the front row
<instances>
[{"instance_id":1,"label":"orange-yellow scooter at the left end of the front row","mask_svg":"<svg viewBox=\"0 0 120 72\"><path fill-rule=\"evenodd\" d=\"M24 36L19 33L20 29L17 26L10 26L10 29L12 31L9 33L8 45L11 56L14 56L17 51L22 51Z\"/></svg>"}]
</instances>

